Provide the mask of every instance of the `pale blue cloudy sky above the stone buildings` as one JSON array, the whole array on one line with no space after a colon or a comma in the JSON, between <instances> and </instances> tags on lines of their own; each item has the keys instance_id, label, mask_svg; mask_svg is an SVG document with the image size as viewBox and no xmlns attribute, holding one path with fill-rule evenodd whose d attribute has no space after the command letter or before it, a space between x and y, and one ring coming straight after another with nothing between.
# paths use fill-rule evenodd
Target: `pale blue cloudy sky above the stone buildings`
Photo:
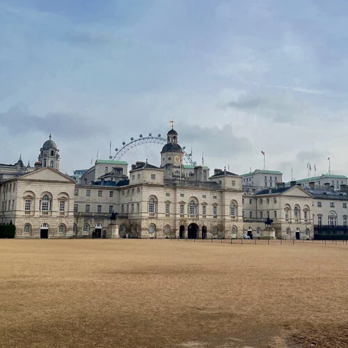
<instances>
[{"instance_id":1,"label":"pale blue cloudy sky above the stone buildings","mask_svg":"<svg viewBox=\"0 0 348 348\"><path fill-rule=\"evenodd\" d=\"M254 171L263 151L285 181L328 157L348 176L348 2L334 5L0 0L0 162L33 165L52 133L72 174L174 120L212 169Z\"/></svg>"}]
</instances>

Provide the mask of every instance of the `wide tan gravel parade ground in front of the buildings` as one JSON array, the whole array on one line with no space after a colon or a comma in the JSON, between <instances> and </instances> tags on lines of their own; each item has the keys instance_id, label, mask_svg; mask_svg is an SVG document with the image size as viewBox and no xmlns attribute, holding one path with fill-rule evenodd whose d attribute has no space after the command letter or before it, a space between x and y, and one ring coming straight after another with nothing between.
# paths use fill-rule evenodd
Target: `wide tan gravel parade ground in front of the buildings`
<instances>
[{"instance_id":1,"label":"wide tan gravel parade ground in front of the buildings","mask_svg":"<svg viewBox=\"0 0 348 348\"><path fill-rule=\"evenodd\" d=\"M0 346L347 347L347 269L342 242L0 239Z\"/></svg>"}]
</instances>

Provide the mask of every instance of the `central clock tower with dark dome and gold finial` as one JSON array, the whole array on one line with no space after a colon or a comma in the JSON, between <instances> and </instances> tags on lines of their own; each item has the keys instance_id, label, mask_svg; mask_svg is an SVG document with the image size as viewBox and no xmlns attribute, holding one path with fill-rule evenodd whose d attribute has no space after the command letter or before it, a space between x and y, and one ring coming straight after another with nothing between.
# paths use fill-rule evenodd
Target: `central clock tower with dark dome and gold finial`
<instances>
[{"instance_id":1,"label":"central clock tower with dark dome and gold finial","mask_svg":"<svg viewBox=\"0 0 348 348\"><path fill-rule=\"evenodd\" d=\"M161 150L161 168L164 168L164 177L179 178L182 165L182 148L177 143L177 132L173 127L167 134L167 143Z\"/></svg>"}]
</instances>

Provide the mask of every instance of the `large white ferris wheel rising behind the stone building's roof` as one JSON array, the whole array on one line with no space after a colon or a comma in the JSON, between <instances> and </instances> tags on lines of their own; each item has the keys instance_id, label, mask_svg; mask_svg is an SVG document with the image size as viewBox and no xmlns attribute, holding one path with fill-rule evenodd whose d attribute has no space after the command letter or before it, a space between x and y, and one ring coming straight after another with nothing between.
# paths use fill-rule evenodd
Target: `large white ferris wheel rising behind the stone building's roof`
<instances>
[{"instance_id":1,"label":"large white ferris wheel rising behind the stone building's roof","mask_svg":"<svg viewBox=\"0 0 348 348\"><path fill-rule=\"evenodd\" d=\"M128 143L123 141L122 148L116 148L116 154L113 156L110 154L109 159L114 161L126 159L129 163L135 163L146 158L156 164L161 147L166 143L167 140L162 138L161 134L157 136L152 133L149 133L148 136L140 134L138 139L132 137ZM185 164L193 166L192 152L185 151L185 146L182 146L182 157Z\"/></svg>"}]
</instances>

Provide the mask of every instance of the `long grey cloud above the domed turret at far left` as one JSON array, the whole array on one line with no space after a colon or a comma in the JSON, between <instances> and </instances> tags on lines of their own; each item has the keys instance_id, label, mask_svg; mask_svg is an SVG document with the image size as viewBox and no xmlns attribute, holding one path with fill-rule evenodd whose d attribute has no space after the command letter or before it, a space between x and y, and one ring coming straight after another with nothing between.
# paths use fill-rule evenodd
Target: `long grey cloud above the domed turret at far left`
<instances>
[{"instance_id":1,"label":"long grey cloud above the domed turret at far left","mask_svg":"<svg viewBox=\"0 0 348 348\"><path fill-rule=\"evenodd\" d=\"M69 113L48 113L44 117L31 115L25 104L17 104L0 113L0 125L13 136L39 131L61 139L86 139L100 129L88 118Z\"/></svg>"}]
</instances>

